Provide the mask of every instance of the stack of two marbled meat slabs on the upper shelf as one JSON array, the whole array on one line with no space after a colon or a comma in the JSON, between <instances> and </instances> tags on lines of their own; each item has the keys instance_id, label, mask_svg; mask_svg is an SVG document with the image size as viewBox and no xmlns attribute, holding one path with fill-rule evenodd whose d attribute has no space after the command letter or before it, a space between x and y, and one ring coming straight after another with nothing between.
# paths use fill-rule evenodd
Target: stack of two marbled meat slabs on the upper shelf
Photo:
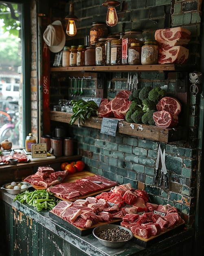
<instances>
[{"instance_id":1,"label":"stack of two marbled meat slabs on the upper shelf","mask_svg":"<svg viewBox=\"0 0 204 256\"><path fill-rule=\"evenodd\" d=\"M157 29L155 40L159 44L158 64L186 63L189 57L189 49L185 46L190 39L191 31L184 27Z\"/></svg>"}]
</instances>

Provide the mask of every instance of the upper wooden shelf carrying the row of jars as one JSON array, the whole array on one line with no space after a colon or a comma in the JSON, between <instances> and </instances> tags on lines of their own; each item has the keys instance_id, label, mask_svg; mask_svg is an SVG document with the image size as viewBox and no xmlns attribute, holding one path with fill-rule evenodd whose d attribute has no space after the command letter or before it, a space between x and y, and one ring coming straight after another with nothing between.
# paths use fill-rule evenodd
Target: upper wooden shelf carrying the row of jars
<instances>
[{"instance_id":1,"label":"upper wooden shelf carrying the row of jars","mask_svg":"<svg viewBox=\"0 0 204 256\"><path fill-rule=\"evenodd\" d=\"M164 64L164 65L119 65L119 66L81 66L81 67L51 67L51 72L81 71L81 72L164 72L195 70L195 64Z\"/></svg>"}]
</instances>

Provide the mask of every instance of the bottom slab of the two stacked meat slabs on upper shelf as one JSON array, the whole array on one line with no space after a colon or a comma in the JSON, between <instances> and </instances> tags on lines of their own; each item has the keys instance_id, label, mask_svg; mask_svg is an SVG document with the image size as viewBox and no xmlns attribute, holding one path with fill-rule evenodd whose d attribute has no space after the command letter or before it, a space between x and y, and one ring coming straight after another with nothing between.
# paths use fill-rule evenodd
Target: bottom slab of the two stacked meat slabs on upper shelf
<instances>
[{"instance_id":1,"label":"bottom slab of the two stacked meat slabs on upper shelf","mask_svg":"<svg viewBox=\"0 0 204 256\"><path fill-rule=\"evenodd\" d=\"M158 64L185 64L189 58L189 49L183 46L159 48Z\"/></svg>"}]
</instances>

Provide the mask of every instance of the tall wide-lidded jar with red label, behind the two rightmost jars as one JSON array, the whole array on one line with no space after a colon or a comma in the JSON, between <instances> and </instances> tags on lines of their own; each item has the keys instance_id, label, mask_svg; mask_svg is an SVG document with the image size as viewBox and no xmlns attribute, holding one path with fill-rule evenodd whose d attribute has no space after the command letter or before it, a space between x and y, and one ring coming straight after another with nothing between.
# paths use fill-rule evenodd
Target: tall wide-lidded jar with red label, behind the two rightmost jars
<instances>
[{"instance_id":1,"label":"tall wide-lidded jar with red label, behind the two rightmost jars","mask_svg":"<svg viewBox=\"0 0 204 256\"><path fill-rule=\"evenodd\" d=\"M144 37L142 32L135 30L125 30L125 34L122 37L122 64L128 64L128 49L131 43L143 44Z\"/></svg>"}]
</instances>

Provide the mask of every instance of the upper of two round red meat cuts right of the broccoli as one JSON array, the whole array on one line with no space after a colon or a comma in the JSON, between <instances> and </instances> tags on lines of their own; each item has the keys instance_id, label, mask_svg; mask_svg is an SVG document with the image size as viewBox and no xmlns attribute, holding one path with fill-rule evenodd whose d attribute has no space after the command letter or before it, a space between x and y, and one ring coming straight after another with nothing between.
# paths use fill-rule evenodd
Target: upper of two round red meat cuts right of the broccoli
<instances>
[{"instance_id":1,"label":"upper of two round red meat cuts right of the broccoli","mask_svg":"<svg viewBox=\"0 0 204 256\"><path fill-rule=\"evenodd\" d=\"M178 116L181 112L181 103L173 97L164 97L156 104L156 108L158 111L165 110Z\"/></svg>"}]
</instances>

